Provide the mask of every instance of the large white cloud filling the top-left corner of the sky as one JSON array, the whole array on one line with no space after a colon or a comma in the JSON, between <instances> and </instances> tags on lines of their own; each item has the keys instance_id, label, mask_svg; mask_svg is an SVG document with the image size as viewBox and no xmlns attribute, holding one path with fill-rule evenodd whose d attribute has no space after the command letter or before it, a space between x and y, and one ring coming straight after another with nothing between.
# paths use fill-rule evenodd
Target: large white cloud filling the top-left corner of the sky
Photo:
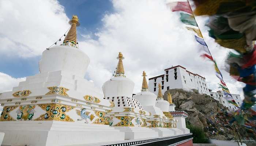
<instances>
[{"instance_id":1,"label":"large white cloud filling the top-left corner of the sky","mask_svg":"<svg viewBox=\"0 0 256 146\"><path fill-rule=\"evenodd\" d=\"M1 0L0 53L31 57L41 55L69 28L63 6L55 0Z\"/></svg>"}]
</instances>

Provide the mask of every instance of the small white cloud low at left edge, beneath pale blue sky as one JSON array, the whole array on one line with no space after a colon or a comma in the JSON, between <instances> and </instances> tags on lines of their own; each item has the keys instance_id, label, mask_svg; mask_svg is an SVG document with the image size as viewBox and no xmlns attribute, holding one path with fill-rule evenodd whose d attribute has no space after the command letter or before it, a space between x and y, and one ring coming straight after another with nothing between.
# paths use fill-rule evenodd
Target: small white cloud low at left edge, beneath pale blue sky
<instances>
[{"instance_id":1,"label":"small white cloud low at left edge, beneath pale blue sky","mask_svg":"<svg viewBox=\"0 0 256 146\"><path fill-rule=\"evenodd\" d=\"M26 78L13 78L8 74L0 72L0 93L12 91L13 87L17 87L19 82L25 81Z\"/></svg>"}]
</instances>

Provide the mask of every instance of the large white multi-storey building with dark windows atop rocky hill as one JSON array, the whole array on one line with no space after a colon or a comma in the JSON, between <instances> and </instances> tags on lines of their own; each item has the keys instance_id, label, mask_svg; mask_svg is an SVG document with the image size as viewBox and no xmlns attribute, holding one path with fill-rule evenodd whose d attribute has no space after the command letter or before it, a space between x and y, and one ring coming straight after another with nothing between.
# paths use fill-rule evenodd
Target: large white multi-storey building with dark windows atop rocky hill
<instances>
[{"instance_id":1,"label":"large white multi-storey building with dark windows atop rocky hill","mask_svg":"<svg viewBox=\"0 0 256 146\"><path fill-rule=\"evenodd\" d=\"M184 91L198 90L200 94L210 95L206 78L189 72L183 66L173 66L164 70L164 74L148 79L148 88L151 92L158 94L157 85L162 85L162 92L169 89L183 89Z\"/></svg>"}]
</instances>

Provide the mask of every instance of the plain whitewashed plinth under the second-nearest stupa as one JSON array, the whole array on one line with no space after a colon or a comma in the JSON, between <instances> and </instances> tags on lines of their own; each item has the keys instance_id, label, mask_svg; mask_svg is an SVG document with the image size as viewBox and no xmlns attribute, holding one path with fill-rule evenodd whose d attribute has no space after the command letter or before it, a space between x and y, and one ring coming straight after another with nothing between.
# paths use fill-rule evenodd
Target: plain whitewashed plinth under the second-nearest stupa
<instances>
[{"instance_id":1,"label":"plain whitewashed plinth under the second-nearest stupa","mask_svg":"<svg viewBox=\"0 0 256 146\"><path fill-rule=\"evenodd\" d=\"M125 133L125 139L158 137L158 132L147 127L115 127Z\"/></svg>"}]
</instances>

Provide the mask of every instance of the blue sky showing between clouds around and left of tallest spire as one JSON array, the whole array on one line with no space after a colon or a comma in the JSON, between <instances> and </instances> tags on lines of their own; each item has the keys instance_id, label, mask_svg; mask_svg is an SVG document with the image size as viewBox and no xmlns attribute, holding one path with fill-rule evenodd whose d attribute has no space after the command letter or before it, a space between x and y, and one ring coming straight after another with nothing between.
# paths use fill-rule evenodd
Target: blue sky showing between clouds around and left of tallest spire
<instances>
[{"instance_id":1,"label":"blue sky showing between clouds around and left of tallest spire","mask_svg":"<svg viewBox=\"0 0 256 146\"><path fill-rule=\"evenodd\" d=\"M113 5L109 0L59 0L59 3L64 6L65 13L69 19L72 18L72 15L78 15L80 18L81 25L78 27L79 41L85 39L80 34L89 34L91 38L97 39L94 33L98 31L97 28L102 26L101 19L105 14L113 12ZM64 32L65 30L63 30ZM60 35L57 34L56 39ZM56 40L52 40L52 42L54 41ZM23 58L0 54L0 58L0 72L9 74L12 77L20 78L39 73L38 61L41 59L41 55Z\"/></svg>"}]
</instances>

